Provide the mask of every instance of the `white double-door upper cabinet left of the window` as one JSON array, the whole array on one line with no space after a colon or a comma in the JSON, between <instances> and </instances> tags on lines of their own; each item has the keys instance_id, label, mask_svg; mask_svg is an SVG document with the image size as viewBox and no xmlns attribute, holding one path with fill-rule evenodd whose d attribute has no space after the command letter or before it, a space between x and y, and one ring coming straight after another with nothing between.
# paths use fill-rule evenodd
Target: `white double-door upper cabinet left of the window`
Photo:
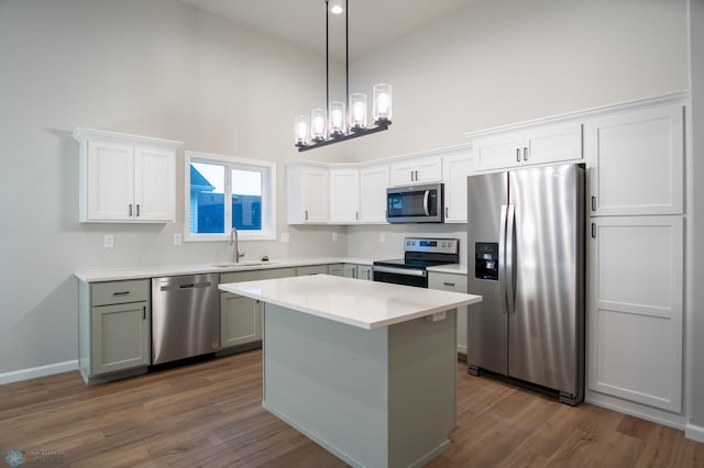
<instances>
[{"instance_id":1,"label":"white double-door upper cabinet left of the window","mask_svg":"<svg viewBox=\"0 0 704 468\"><path fill-rule=\"evenodd\" d=\"M81 222L174 222L179 142L78 129Z\"/></svg>"}]
</instances>

